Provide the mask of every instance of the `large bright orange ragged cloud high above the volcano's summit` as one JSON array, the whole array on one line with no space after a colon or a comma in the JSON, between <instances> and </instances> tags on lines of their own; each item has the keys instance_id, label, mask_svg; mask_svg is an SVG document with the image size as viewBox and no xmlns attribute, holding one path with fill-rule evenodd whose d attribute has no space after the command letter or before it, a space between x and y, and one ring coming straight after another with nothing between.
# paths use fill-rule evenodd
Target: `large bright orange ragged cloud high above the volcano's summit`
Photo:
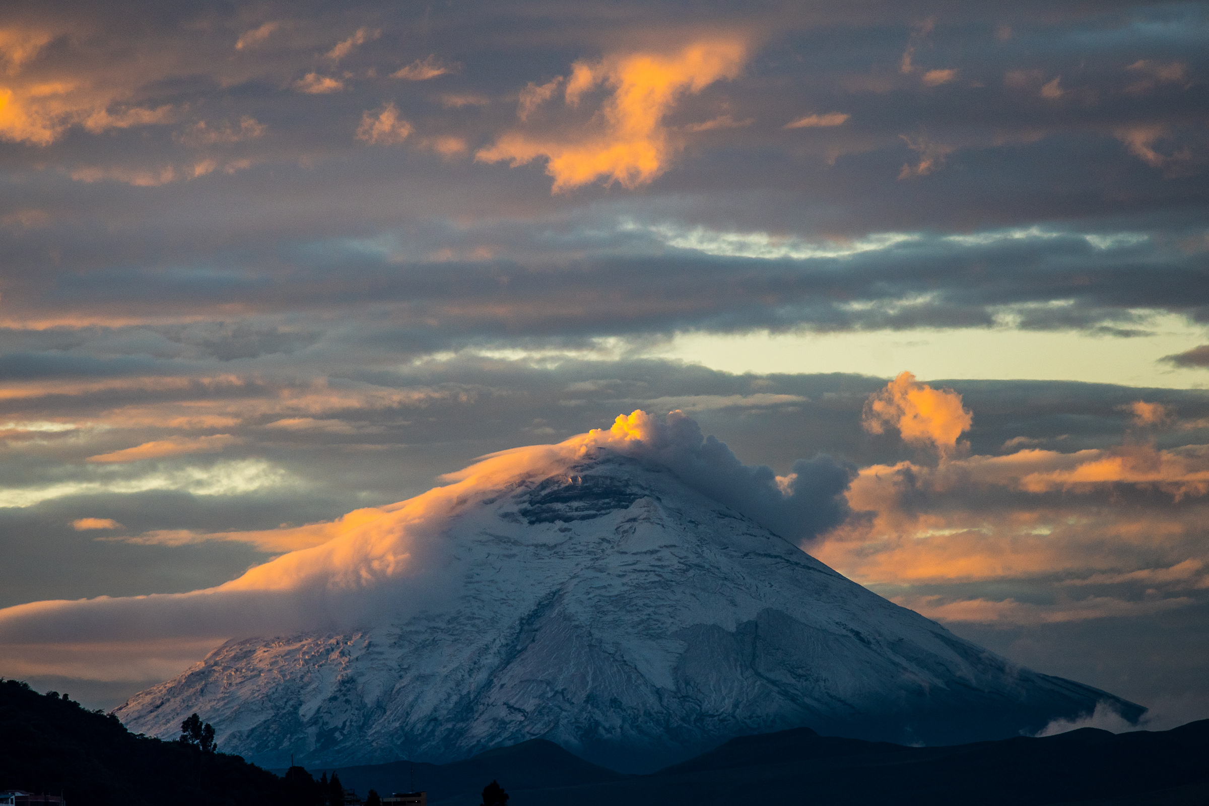
<instances>
[{"instance_id":1,"label":"large bright orange ragged cloud high above the volcano's summit","mask_svg":"<svg viewBox=\"0 0 1209 806\"><path fill-rule=\"evenodd\" d=\"M559 132L509 132L480 150L480 162L521 166L546 160L553 192L603 179L624 187L653 181L678 150L664 117L686 93L696 93L722 79L733 79L747 59L742 39L694 42L670 54L630 53L600 62L577 62L566 81L566 108L589 93L607 97L586 124ZM528 116L537 95L522 95L519 114Z\"/></svg>"}]
</instances>

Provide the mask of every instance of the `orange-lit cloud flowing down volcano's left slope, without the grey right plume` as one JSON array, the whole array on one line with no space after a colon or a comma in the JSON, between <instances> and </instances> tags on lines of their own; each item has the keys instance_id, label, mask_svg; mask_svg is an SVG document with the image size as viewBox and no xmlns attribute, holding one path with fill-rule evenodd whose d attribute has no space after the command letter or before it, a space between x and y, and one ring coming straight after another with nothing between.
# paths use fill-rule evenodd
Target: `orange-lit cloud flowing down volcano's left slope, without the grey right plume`
<instances>
[{"instance_id":1,"label":"orange-lit cloud flowing down volcano's left slope, without the grey right plume","mask_svg":"<svg viewBox=\"0 0 1209 806\"><path fill-rule=\"evenodd\" d=\"M0 609L0 644L63 645L314 628L334 619L360 617L365 607L376 607L376 591L388 596L398 613L399 608L422 605L424 596L447 595L450 518L484 489L559 472L600 448L660 462L660 457L675 458L694 446L700 450L702 442L700 429L681 412L658 417L635 411L619 416L608 429L594 429L557 445L491 454L445 476L449 483L444 487L397 504L357 510L330 523L262 532L160 530L135 535L144 543L220 539L250 543L266 551L295 550L230 582L190 593L34 602ZM710 466L719 472L735 470L733 456L716 451L696 456L715 457L708 459L713 462ZM750 474L741 469L733 477L750 480ZM54 638L48 638L51 633Z\"/></svg>"}]
</instances>

